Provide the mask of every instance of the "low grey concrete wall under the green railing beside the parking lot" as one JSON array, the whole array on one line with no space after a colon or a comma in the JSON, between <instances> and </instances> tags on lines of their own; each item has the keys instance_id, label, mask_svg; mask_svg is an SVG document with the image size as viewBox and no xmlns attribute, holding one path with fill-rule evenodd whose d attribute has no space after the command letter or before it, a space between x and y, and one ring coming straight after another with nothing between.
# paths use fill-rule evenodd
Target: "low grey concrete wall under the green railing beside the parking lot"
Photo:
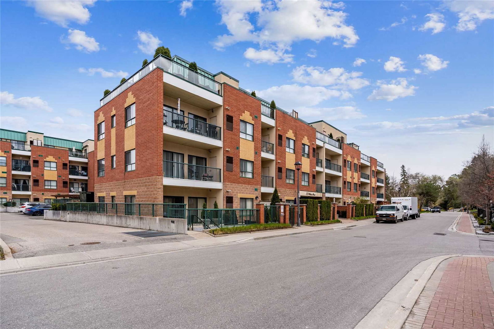
<instances>
[{"instance_id":1,"label":"low grey concrete wall under the green railing beside the parking lot","mask_svg":"<svg viewBox=\"0 0 494 329\"><path fill-rule=\"evenodd\" d=\"M143 217L67 211L66 220L68 222L130 227L143 230L187 234L187 220L183 218Z\"/></svg>"}]
</instances>

